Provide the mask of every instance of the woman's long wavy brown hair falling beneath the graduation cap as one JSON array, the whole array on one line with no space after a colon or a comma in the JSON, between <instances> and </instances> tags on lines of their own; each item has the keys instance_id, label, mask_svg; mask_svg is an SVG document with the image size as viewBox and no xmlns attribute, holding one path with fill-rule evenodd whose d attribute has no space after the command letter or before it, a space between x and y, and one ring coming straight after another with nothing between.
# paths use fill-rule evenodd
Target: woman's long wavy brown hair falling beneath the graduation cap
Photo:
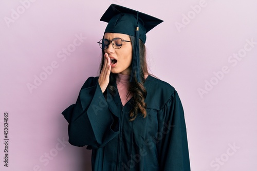
<instances>
[{"instance_id":1,"label":"woman's long wavy brown hair falling beneath the graduation cap","mask_svg":"<svg viewBox=\"0 0 257 171\"><path fill-rule=\"evenodd\" d=\"M132 48L134 47L134 42L135 42L135 37L134 36L130 36L131 39L131 43L132 43ZM133 49L134 51L134 49ZM102 60L101 60L101 64L100 64L100 72L103 68L103 64L104 64L104 50L102 50ZM134 56L132 57L134 58ZM141 73L140 73L140 78L141 78L141 83L139 83L136 79L133 82L130 82L130 85L128 86L128 95L132 94L132 109L130 111L130 121L133 121L136 119L138 113L142 113L143 118L146 117L146 103L144 102L144 99L146 98L146 90L143 86L144 81L145 81L145 74L149 74L148 72L148 65L146 63L146 50L145 50L145 46L143 44L143 42L139 39L139 58L140 58L140 68L141 68ZM131 67L131 66L130 66ZM131 68L132 70L133 68ZM114 86L116 84L116 78L117 78L117 74L112 73L110 74L110 81L109 84L107 86L107 89L111 92L112 96L114 96L114 94L117 94L117 88Z\"/></svg>"}]
</instances>

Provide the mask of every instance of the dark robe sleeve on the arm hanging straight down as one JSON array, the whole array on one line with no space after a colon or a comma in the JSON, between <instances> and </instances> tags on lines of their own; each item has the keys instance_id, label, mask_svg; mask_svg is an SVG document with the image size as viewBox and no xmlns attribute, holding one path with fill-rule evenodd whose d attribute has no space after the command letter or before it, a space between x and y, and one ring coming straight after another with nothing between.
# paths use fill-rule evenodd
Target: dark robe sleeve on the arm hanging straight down
<instances>
[{"instance_id":1,"label":"dark robe sleeve on the arm hanging straight down","mask_svg":"<svg viewBox=\"0 0 257 171\"><path fill-rule=\"evenodd\" d=\"M160 170L189 171L189 151L186 124L181 101L174 90L167 103L158 112L158 143Z\"/></svg>"}]
</instances>

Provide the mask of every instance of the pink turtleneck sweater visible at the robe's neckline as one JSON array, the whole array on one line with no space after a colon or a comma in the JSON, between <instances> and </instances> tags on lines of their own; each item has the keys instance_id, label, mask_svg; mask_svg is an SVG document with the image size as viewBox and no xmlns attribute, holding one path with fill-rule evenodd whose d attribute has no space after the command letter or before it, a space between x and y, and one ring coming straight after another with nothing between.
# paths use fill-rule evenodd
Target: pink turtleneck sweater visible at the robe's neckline
<instances>
[{"instance_id":1,"label":"pink turtleneck sweater visible at the robe's neckline","mask_svg":"<svg viewBox=\"0 0 257 171\"><path fill-rule=\"evenodd\" d=\"M118 78L117 78L117 88L120 94L120 100L123 106L127 103L132 98L132 94L129 94L127 97L128 93L128 85L130 83L130 75L122 75L118 73Z\"/></svg>"}]
</instances>

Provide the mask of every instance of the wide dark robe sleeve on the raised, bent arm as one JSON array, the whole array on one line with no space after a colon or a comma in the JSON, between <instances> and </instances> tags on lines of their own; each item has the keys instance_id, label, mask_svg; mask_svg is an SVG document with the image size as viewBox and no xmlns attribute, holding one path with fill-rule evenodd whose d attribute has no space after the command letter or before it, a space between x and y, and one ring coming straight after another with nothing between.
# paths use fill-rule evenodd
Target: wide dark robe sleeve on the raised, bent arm
<instances>
[{"instance_id":1,"label":"wide dark robe sleeve on the raised, bent arm","mask_svg":"<svg viewBox=\"0 0 257 171\"><path fill-rule=\"evenodd\" d=\"M62 114L69 123L71 145L99 148L118 135L118 117L109 109L96 78L87 79L76 104L69 106Z\"/></svg>"}]
</instances>

